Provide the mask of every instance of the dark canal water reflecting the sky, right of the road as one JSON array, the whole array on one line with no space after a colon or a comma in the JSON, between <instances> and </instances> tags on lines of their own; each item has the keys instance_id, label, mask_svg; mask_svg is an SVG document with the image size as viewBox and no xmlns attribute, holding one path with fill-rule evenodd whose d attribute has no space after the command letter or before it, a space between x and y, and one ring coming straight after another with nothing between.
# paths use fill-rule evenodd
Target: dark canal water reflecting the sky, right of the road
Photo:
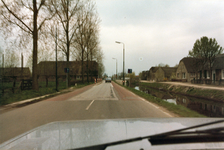
<instances>
[{"instance_id":1,"label":"dark canal water reflecting the sky, right of the road","mask_svg":"<svg viewBox=\"0 0 224 150\"><path fill-rule=\"evenodd\" d=\"M224 103L222 102L215 102L212 100L176 95L148 87L146 88L136 86L135 89L147 94L151 94L154 97L160 98L169 103L173 103L175 105L183 105L191 110L197 111L198 113L208 117L224 117Z\"/></svg>"}]
</instances>

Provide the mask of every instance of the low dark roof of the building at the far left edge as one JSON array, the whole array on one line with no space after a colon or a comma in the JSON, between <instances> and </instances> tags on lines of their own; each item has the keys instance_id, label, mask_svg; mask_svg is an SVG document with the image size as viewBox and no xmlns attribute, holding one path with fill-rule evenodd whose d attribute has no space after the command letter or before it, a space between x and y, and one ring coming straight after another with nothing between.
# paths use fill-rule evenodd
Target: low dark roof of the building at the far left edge
<instances>
[{"instance_id":1,"label":"low dark roof of the building at the far left edge","mask_svg":"<svg viewBox=\"0 0 224 150\"><path fill-rule=\"evenodd\" d=\"M28 67L0 68L0 75L2 76L3 73L4 76L8 77L20 77L20 76L31 77L31 72Z\"/></svg>"}]
</instances>

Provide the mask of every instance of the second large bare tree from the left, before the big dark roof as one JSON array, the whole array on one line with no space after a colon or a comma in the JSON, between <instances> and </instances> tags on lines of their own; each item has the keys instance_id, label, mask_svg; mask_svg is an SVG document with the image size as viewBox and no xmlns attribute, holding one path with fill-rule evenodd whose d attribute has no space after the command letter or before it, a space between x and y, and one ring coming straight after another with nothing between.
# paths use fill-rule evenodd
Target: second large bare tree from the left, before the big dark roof
<instances>
[{"instance_id":1,"label":"second large bare tree from the left, before the big dark roof","mask_svg":"<svg viewBox=\"0 0 224 150\"><path fill-rule=\"evenodd\" d=\"M58 47L65 53L67 68L69 68L71 41L77 31L76 14L82 7L80 1L71 0L50 0L50 10L56 13L55 20L59 22L62 28L59 28ZM67 73L66 86L69 86L69 72Z\"/></svg>"}]
</instances>

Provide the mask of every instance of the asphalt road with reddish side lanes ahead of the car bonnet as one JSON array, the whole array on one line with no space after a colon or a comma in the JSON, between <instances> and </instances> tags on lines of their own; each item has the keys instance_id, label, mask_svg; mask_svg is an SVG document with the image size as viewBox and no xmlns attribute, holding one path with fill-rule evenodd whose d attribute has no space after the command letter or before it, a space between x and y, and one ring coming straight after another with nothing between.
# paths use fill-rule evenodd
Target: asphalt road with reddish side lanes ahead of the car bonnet
<instances>
[{"instance_id":1,"label":"asphalt road with reddish side lanes ahead of the car bonnet","mask_svg":"<svg viewBox=\"0 0 224 150\"><path fill-rule=\"evenodd\" d=\"M0 114L0 143L38 126L67 120L172 117L115 83L87 86Z\"/></svg>"}]
</instances>

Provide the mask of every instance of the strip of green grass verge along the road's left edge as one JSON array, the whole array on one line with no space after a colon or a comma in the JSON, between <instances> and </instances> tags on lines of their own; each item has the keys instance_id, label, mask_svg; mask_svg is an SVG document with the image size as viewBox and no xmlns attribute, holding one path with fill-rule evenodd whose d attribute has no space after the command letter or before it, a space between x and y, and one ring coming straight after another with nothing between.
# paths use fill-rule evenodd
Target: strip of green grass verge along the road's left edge
<instances>
[{"instance_id":1,"label":"strip of green grass verge along the road's left edge","mask_svg":"<svg viewBox=\"0 0 224 150\"><path fill-rule=\"evenodd\" d=\"M22 101L22 100L26 100L26 99L43 96L43 95L47 95L47 94L56 93L55 82L49 82L48 87L46 87L45 82L39 82L38 84L39 84L39 91L35 91L35 90L21 91L21 90L19 90L16 93L12 93L12 91L10 90L10 91L7 91L4 94L4 96L1 94L0 95L0 106L18 102L18 101ZM77 86L72 86L72 87L73 87L73 89L78 89L78 88L82 88L82 87L90 85L90 84L92 84L92 82L90 82L89 84L88 83L84 83L84 84L79 83ZM65 89L66 89L66 82L59 82L58 90L61 93L69 92L69 90L66 91ZM49 96L49 97L51 97L51 96Z\"/></svg>"}]
</instances>

